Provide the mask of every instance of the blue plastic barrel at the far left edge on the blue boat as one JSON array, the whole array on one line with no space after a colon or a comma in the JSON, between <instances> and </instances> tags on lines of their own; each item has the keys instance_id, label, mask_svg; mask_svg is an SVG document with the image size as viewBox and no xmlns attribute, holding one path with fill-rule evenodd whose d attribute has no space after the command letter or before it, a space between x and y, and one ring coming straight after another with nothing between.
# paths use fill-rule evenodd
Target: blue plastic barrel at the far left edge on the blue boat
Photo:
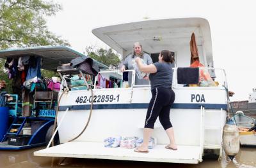
<instances>
[{"instance_id":1,"label":"blue plastic barrel at the far left edge on the blue boat","mask_svg":"<svg viewBox=\"0 0 256 168\"><path fill-rule=\"evenodd\" d=\"M0 107L0 142L8 130L8 113L9 108Z\"/></svg>"}]
</instances>

